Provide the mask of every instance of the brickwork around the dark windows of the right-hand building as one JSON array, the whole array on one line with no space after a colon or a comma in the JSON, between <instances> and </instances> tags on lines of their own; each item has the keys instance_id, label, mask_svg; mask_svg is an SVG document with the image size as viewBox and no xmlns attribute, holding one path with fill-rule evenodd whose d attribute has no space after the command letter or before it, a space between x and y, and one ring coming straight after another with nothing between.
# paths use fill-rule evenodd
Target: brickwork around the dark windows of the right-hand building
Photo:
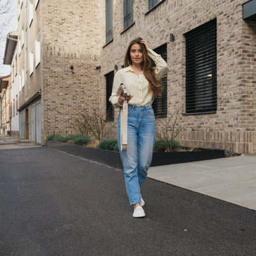
<instances>
[{"instance_id":1,"label":"brickwork around the dark windows of the right-hand building","mask_svg":"<svg viewBox=\"0 0 256 256\"><path fill-rule=\"evenodd\" d=\"M113 1L113 42L102 52L102 74L121 68L125 50L136 36L152 49L167 43L168 113L180 108L178 140L189 147L220 148L238 153L256 152L255 22L243 20L245 1L163 1L147 13L148 1L134 1L134 26L123 31L123 5ZM147 15L145 15L147 13ZM184 33L217 20L218 107L214 114L185 112L186 56ZM173 33L175 41L170 42ZM158 121L160 122L160 121ZM159 127L159 125L158 125ZM160 129L160 127L159 127Z\"/></svg>"}]
</instances>

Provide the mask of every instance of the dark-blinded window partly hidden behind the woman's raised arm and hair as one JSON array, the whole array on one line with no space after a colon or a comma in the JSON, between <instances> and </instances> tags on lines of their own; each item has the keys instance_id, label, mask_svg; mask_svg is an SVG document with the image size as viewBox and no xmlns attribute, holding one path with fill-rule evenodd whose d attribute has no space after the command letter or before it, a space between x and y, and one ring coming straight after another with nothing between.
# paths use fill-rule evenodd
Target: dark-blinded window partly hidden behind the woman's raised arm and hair
<instances>
[{"instance_id":1,"label":"dark-blinded window partly hidden behind the woman's raised arm and hair","mask_svg":"<svg viewBox=\"0 0 256 256\"><path fill-rule=\"evenodd\" d=\"M167 62L167 44L157 47L154 51L160 54ZM152 66L154 66L154 63L152 63ZM157 97L152 103L156 117L166 117L167 115L167 75L161 79L161 85L163 86L163 94L161 97Z\"/></svg>"}]
</instances>

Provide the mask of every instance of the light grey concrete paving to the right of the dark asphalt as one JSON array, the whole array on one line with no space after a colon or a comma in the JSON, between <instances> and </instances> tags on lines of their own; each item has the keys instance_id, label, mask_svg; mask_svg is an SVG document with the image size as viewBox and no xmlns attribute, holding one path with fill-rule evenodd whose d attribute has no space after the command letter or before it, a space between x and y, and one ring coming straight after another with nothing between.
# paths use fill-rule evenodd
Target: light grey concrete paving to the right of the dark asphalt
<instances>
[{"instance_id":1,"label":"light grey concrete paving to the right of the dark asphalt","mask_svg":"<svg viewBox=\"0 0 256 256\"><path fill-rule=\"evenodd\" d=\"M148 177L256 211L256 154L150 167Z\"/></svg>"}]
</instances>

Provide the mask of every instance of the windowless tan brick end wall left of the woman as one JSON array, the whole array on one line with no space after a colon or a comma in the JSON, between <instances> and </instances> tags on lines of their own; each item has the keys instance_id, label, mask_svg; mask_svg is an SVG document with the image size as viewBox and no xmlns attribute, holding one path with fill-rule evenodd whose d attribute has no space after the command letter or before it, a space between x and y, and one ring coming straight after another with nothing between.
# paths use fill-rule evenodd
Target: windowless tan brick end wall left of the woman
<instances>
[{"instance_id":1,"label":"windowless tan brick end wall left of the woman","mask_svg":"<svg viewBox=\"0 0 256 256\"><path fill-rule=\"evenodd\" d=\"M79 112L99 108L99 3L42 1L42 141L74 133ZM70 69L73 66L73 72ZM43 143L44 143L43 142Z\"/></svg>"}]
</instances>

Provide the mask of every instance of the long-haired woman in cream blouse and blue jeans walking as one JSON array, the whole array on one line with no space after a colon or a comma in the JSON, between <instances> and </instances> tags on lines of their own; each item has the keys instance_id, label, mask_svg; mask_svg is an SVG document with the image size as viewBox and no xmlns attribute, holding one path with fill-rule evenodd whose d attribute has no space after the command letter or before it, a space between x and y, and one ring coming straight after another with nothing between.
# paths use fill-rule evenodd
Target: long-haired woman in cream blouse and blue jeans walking
<instances>
[{"instance_id":1,"label":"long-haired woman in cream blouse and blue jeans walking","mask_svg":"<svg viewBox=\"0 0 256 256\"><path fill-rule=\"evenodd\" d=\"M156 64L152 68L150 58ZM159 54L150 49L142 38L131 41L125 54L124 68L116 72L113 90L109 101L120 108L124 104L122 92L117 94L121 83L125 84L131 96L127 97L127 151L120 150L124 166L125 186L129 202L134 206L133 217L145 216L140 187L147 177L152 161L152 152L156 137L156 120L152 109L153 100L162 93L159 83L170 69ZM120 145L120 113L117 125L118 147Z\"/></svg>"}]
</instances>

